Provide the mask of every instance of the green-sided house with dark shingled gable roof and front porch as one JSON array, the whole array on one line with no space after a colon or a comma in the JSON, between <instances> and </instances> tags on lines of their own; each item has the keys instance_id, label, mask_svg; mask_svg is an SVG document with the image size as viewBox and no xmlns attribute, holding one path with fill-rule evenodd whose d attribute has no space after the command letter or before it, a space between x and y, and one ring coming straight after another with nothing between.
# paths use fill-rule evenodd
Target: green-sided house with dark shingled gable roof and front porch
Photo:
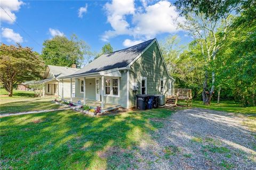
<instances>
[{"instance_id":1,"label":"green-sided house with dark shingled gable roof and front porch","mask_svg":"<svg viewBox=\"0 0 256 170\"><path fill-rule=\"evenodd\" d=\"M59 79L63 83L75 80L74 95L69 92L66 98L62 90L62 100L101 106L103 111L134 107L136 94L168 96L174 90L174 79L169 75L156 38L102 54L84 68ZM74 84L70 86L73 90Z\"/></svg>"}]
</instances>

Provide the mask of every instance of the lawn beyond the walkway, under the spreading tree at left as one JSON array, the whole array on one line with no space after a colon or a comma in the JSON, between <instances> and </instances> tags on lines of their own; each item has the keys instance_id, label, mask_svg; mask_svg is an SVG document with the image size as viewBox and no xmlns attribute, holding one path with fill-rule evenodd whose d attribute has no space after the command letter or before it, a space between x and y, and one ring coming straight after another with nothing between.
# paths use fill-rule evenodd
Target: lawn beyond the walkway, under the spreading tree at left
<instances>
[{"instance_id":1,"label":"lawn beyond the walkway, under the spreading tree at left","mask_svg":"<svg viewBox=\"0 0 256 170\"><path fill-rule=\"evenodd\" d=\"M3 88L0 89L0 92L0 114L58 109L61 107L51 102L54 98L34 98L34 92L14 90L12 98L6 96L8 93Z\"/></svg>"}]
</instances>

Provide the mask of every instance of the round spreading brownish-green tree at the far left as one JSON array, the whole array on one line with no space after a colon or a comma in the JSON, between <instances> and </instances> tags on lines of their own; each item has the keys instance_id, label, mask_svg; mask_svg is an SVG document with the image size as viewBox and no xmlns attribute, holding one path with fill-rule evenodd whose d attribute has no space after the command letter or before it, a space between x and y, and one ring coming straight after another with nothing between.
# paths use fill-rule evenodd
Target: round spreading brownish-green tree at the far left
<instances>
[{"instance_id":1,"label":"round spreading brownish-green tree at the far left","mask_svg":"<svg viewBox=\"0 0 256 170\"><path fill-rule=\"evenodd\" d=\"M29 47L1 44L0 69L0 80L11 97L13 86L18 82L34 80L42 76L44 63L38 53L33 52Z\"/></svg>"}]
</instances>

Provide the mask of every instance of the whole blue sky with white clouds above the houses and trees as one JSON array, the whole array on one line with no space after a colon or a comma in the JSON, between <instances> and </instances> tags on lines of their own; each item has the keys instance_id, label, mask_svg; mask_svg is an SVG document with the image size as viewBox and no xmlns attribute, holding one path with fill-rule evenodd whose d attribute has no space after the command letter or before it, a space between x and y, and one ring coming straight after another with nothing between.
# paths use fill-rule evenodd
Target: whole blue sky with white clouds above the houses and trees
<instances>
[{"instance_id":1,"label":"whole blue sky with white clouds above the houses and trees","mask_svg":"<svg viewBox=\"0 0 256 170\"><path fill-rule=\"evenodd\" d=\"M107 42L114 50L120 50L147 39L156 37L162 41L170 34L178 34L180 44L186 45L191 39L185 31L177 29L177 21L184 19L178 17L175 7L170 7L171 3L132 0L1 1L1 43L19 42L41 53L46 39L54 35L70 37L74 33L89 44L92 51L100 51Z\"/></svg>"}]
</instances>

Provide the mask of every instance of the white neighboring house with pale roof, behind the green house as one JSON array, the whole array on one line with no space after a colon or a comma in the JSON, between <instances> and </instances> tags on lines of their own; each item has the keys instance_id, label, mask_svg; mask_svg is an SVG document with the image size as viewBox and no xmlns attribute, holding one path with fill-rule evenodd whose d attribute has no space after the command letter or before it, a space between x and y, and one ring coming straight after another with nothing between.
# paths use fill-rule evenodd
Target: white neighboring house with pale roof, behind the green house
<instances>
[{"instance_id":1,"label":"white neighboring house with pale roof, behind the green house","mask_svg":"<svg viewBox=\"0 0 256 170\"><path fill-rule=\"evenodd\" d=\"M70 74L74 74L74 72L78 71L79 69L76 68L76 65L73 64L72 68L69 67L60 67L60 66L47 66L43 80L36 82L37 84L43 84L43 96L44 93L47 95L55 95L60 97L60 90L64 91L63 97L69 97L70 96L70 80L66 79L60 83L59 77L61 76L67 76ZM75 80L73 81L74 89L73 89L73 95L75 95Z\"/></svg>"}]
</instances>

